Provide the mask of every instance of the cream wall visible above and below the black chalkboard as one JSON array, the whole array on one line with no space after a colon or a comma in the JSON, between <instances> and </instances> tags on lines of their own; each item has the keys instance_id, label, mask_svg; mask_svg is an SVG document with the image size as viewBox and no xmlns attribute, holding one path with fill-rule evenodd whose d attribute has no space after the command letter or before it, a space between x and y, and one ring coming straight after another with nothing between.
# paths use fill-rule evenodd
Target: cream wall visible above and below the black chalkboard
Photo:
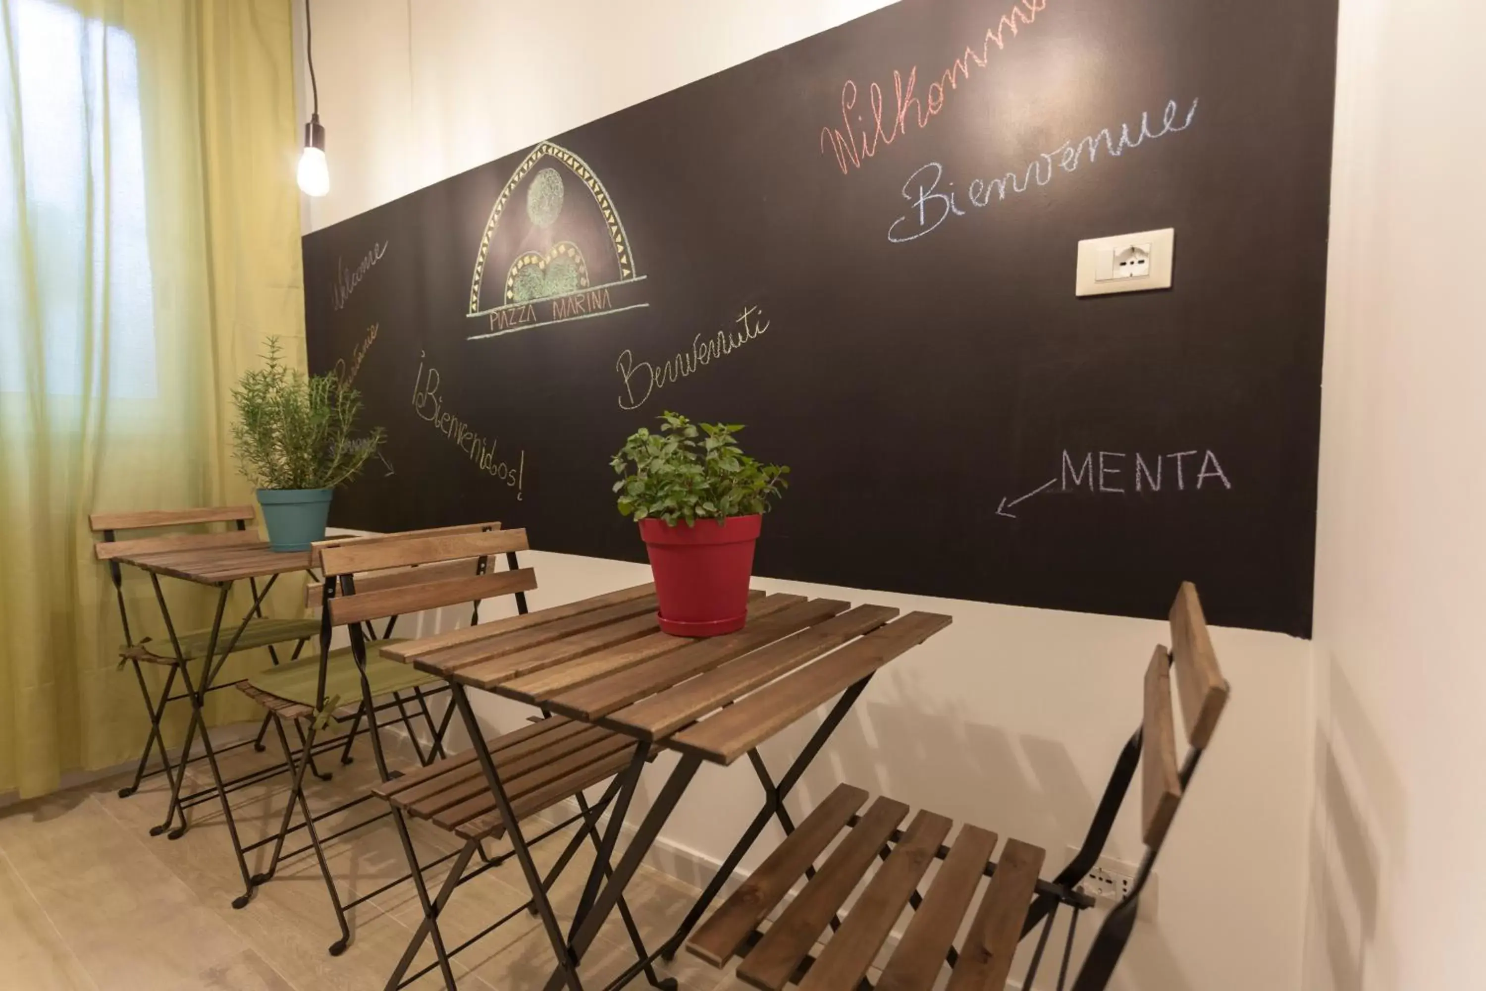
<instances>
[{"instance_id":1,"label":"cream wall visible above and below the black chalkboard","mask_svg":"<svg viewBox=\"0 0 1486 991\"><path fill-rule=\"evenodd\" d=\"M306 202L306 230L880 6L315 0L331 193ZM538 545L541 538L533 533ZM533 554L533 562L542 582L533 606L648 578L648 569L627 563L557 554ZM1051 854L1049 875L1061 865L1064 847L1082 839L1114 756L1138 722L1140 679L1152 646L1165 639L1162 624L758 584L955 618L871 685L807 776L796 811L837 780L851 780L1042 844ZM1122 964L1119 988L1299 987L1314 743L1311 645L1242 630L1219 630L1214 639L1233 703L1162 856L1156 911ZM514 707L487 712L502 728L520 719ZM777 768L808 735L808 727L798 730L765 752ZM649 771L646 790L660 786L666 765ZM746 762L727 771L703 768L663 841L679 854L721 859L759 798ZM759 848L767 851L773 839ZM1138 856L1132 816L1122 820L1110 851ZM1080 926L1085 935L1092 929Z\"/></svg>"}]
</instances>

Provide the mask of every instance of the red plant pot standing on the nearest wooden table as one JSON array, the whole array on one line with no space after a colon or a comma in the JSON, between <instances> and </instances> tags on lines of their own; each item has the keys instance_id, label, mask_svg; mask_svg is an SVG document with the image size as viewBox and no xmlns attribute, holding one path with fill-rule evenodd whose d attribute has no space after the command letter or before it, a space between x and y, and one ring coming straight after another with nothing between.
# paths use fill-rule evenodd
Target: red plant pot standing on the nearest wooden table
<instances>
[{"instance_id":1,"label":"red plant pot standing on the nearest wooden table","mask_svg":"<svg viewBox=\"0 0 1486 991\"><path fill-rule=\"evenodd\" d=\"M660 628L673 636L719 636L747 621L747 581L762 517L697 520L695 526L640 520L660 603Z\"/></svg>"}]
</instances>

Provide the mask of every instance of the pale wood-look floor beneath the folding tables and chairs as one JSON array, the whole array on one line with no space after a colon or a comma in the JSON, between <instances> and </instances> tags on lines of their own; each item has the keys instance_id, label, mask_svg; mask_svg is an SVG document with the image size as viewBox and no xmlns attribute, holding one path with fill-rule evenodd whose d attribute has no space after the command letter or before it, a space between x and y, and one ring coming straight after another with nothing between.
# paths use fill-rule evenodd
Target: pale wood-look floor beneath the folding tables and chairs
<instances>
[{"instance_id":1,"label":"pale wood-look floor beneath the folding tables and chairs","mask_svg":"<svg viewBox=\"0 0 1486 991\"><path fill-rule=\"evenodd\" d=\"M223 732L223 737L226 732ZM270 734L272 737L272 734ZM224 774L267 762L250 747L224 759ZM358 741L357 761L342 767L333 755L321 767L334 768L330 783L312 792L318 808L358 795L376 776L370 747ZM205 768L193 774L205 774ZM147 828L163 816L165 782L152 779L131 798L116 790L126 777L108 779L31 802L0 808L0 960L4 987L28 991L85 988L88 991L363 991L382 988L422 918L410 883L401 884L352 912L355 939L340 958L325 948L339 930L330 899L303 854L285 862L276 880L262 887L242 911L230 906L241 893L220 807L199 805L193 826L178 841L152 838ZM282 810L285 780L233 795L233 813L244 841L272 829ZM385 808L366 802L343 823ZM337 828L321 826L322 834ZM426 823L413 823L419 851L453 850L455 841ZM300 834L302 835L302 834ZM536 850L539 865L551 863L569 834ZM492 853L504 850L492 847ZM330 844L331 869L346 888L370 891L406 871L397 832L383 820ZM554 891L566 921L591 863L593 847L574 859ZM250 854L250 868L266 865L267 850ZM431 857L429 857L431 859ZM431 886L443 868L429 872ZM525 900L520 866L510 860L461 887L443 915L446 939L458 943ZM645 940L655 946L685 915L695 891L642 868L629 891ZM434 960L425 946L418 967ZM584 960L584 984L602 987L633 961L618 914ZM551 951L536 918L522 912L495 935L455 958L459 987L470 991L539 988L551 966ZM719 972L679 954L661 964L682 988L734 991L744 985L733 970ZM441 988L437 970L416 988ZM642 979L630 985L648 988Z\"/></svg>"}]
</instances>

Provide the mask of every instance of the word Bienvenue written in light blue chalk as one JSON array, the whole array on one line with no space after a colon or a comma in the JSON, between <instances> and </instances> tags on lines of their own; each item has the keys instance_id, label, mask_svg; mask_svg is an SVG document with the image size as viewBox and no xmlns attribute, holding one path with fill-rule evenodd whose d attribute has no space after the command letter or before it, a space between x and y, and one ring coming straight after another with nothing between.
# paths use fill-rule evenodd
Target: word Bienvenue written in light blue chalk
<instances>
[{"instance_id":1,"label":"word Bienvenue written in light blue chalk","mask_svg":"<svg viewBox=\"0 0 1486 991\"><path fill-rule=\"evenodd\" d=\"M1006 172L1000 178L982 180L976 178L970 181L966 190L966 198L973 207L988 207L991 199L1006 199L1006 192L1025 193L1028 189L1036 186L1046 186L1052 181L1057 169L1064 172L1076 172L1079 163L1088 159L1089 165L1098 160L1100 143L1104 144L1104 153L1119 157L1128 149L1140 147L1147 138L1156 140L1168 134L1175 134L1186 131L1192 126L1193 119L1198 114L1198 101L1192 101L1192 107L1187 110L1186 120L1180 125L1177 123L1177 116L1180 108L1177 101L1172 100L1167 104L1167 110L1162 114L1161 131L1150 129L1150 114L1140 114L1140 128L1137 134L1131 137L1131 126L1128 123L1120 125L1119 138L1110 132L1109 128L1097 131L1095 134L1073 141L1071 138L1055 147L1052 152L1043 152L1037 159L1027 166L1027 171L1021 175L1016 172ZM1018 180L1021 180L1018 183ZM887 239L893 244L905 244L908 241L917 241L924 235L933 233L944 224L950 217L963 217L966 209L960 208L958 199L954 193L954 183L950 183L944 192L939 184L944 181L944 166L939 162L929 162L908 177L903 183L903 199L906 199L912 207L906 214L895 220L887 227Z\"/></svg>"}]
</instances>

